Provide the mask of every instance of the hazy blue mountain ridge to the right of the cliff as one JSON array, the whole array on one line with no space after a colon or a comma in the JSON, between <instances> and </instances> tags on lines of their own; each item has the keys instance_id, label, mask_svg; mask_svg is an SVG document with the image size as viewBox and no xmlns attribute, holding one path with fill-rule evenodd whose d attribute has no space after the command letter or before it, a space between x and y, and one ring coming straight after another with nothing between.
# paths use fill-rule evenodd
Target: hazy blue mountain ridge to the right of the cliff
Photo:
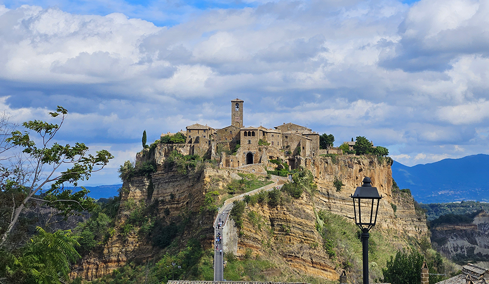
<instances>
[{"instance_id":1,"label":"hazy blue mountain ridge to the right of the cliff","mask_svg":"<svg viewBox=\"0 0 489 284\"><path fill-rule=\"evenodd\" d=\"M413 167L394 161L392 177L401 189L409 188L418 202L489 202L489 155L486 154Z\"/></svg>"}]
</instances>

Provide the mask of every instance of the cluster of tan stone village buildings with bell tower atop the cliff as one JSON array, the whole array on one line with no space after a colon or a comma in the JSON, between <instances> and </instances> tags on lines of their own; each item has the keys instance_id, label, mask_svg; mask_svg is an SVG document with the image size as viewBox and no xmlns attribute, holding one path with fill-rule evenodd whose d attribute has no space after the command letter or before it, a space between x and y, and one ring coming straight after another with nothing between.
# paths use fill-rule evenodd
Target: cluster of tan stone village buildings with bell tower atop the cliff
<instances>
[{"instance_id":1,"label":"cluster of tan stone village buildings with bell tower atop the cliff","mask_svg":"<svg viewBox=\"0 0 489 284\"><path fill-rule=\"evenodd\" d=\"M293 123L272 129L244 127L243 112L244 101L237 98L231 101L231 125L222 129L198 123L187 126L185 143L192 145L192 154L212 153L211 158L221 157L222 167L233 168L267 165L269 159L277 158L294 168L319 154L319 133Z\"/></svg>"}]
</instances>

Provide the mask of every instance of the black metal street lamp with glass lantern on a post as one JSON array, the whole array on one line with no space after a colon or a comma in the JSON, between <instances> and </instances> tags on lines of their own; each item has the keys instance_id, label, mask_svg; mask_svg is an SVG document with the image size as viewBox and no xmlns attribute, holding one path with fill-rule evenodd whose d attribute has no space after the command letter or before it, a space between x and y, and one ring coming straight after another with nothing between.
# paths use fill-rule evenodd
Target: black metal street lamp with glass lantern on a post
<instances>
[{"instance_id":1,"label":"black metal street lamp with glass lantern on a post","mask_svg":"<svg viewBox=\"0 0 489 284\"><path fill-rule=\"evenodd\" d=\"M363 179L362 186L357 187L355 193L350 196L353 198L355 223L362 231L363 284L368 284L368 238L370 237L368 232L375 226L375 222L377 221L378 202L382 198L382 196L378 195L377 187L372 187L371 183L372 181L370 180L370 177L366 176ZM356 205L355 200L358 205ZM377 200L377 204L374 204L375 200ZM358 208L356 208L357 206ZM363 212L361 211L362 208Z\"/></svg>"}]
</instances>

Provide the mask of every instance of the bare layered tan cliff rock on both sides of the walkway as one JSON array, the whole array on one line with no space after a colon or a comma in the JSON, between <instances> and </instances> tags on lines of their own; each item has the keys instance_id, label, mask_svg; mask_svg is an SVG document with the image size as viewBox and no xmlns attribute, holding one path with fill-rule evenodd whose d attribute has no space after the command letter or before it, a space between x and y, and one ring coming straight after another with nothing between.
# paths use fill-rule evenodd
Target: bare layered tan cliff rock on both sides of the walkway
<instances>
[{"instance_id":1,"label":"bare layered tan cliff rock on both sides of the walkway","mask_svg":"<svg viewBox=\"0 0 489 284\"><path fill-rule=\"evenodd\" d=\"M174 150L186 153L187 149L183 147L158 144L138 153L136 165L152 164L156 166L156 172L124 180L118 218L109 240L83 259L73 277L92 280L110 274L132 260L160 255L162 248L151 241L150 235L141 237L138 234L144 225L128 229L128 219L138 206L145 208L143 212L147 212L147 219L154 226L185 222L183 233L177 238L197 238L204 248L212 247L214 211L207 209L209 202L221 204L222 198L228 197L226 185L241 177L237 175L238 170L219 169L208 163L201 163L186 174L168 167L165 161L170 153ZM318 157L305 164L314 175L317 191L303 193L299 199L291 199L276 207L248 206L243 228L238 232L238 257L249 256L251 251L253 257L272 260L282 274L306 273L329 280L338 279L341 270L350 264L341 256L334 257L325 251L325 240L317 229L321 222L318 213L331 212L353 224L350 195L365 176L371 177L373 185L384 197L378 209L378 225L373 230L373 235L378 235L374 240L385 240L389 247L397 249L427 236L426 220L424 215L417 214L412 197L392 192L392 172L387 159L334 156ZM339 192L333 186L335 177L344 184ZM209 199L209 193L216 191L219 195ZM254 218L250 211L255 212ZM344 250L348 253L348 248ZM383 258L379 261L385 262Z\"/></svg>"}]
</instances>

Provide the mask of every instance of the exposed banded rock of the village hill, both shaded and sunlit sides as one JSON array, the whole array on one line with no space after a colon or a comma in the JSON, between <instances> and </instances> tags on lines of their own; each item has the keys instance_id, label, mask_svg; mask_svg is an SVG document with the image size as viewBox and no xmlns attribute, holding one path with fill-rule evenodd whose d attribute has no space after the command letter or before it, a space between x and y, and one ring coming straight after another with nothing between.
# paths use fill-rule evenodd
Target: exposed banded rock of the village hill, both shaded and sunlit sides
<instances>
[{"instance_id":1,"label":"exposed banded rock of the village hill, both shaded and sunlit sides","mask_svg":"<svg viewBox=\"0 0 489 284\"><path fill-rule=\"evenodd\" d=\"M181 148L181 147L180 147ZM82 276L92 280L110 274L114 269L126 264L134 258L148 258L155 253L148 240L138 239L135 232L123 234L125 220L131 208L128 200L146 202L151 204L158 200L157 206L163 220L178 221L178 215L183 212L199 212L204 205L205 193L210 190L210 184L224 187L233 178L239 178L231 170L205 169L200 175L182 176L177 172L167 172L163 167L164 159L177 149L187 152L184 148L161 147L158 145L154 152L146 150L146 154L138 154L137 162L154 161L157 172L148 176L133 177L124 181L119 217L114 234L102 251L92 252L73 272L72 277ZM301 162L302 163L302 162ZM303 161L311 170L318 185L318 192L310 197L303 195L293 199L288 206L268 208L267 206L250 207L256 211L267 229L257 229L247 221L241 230L237 241L237 254L243 257L247 249L254 255L269 253L264 234L273 234L278 238L278 245L282 246L276 251L279 255L273 256L285 262L289 267L300 273L321 277L329 280L339 279L340 268L328 257L320 243L321 235L315 228L316 213L326 210L350 219L353 223L353 207L351 194L357 186L361 186L363 177L369 176L373 185L378 188L381 199L378 209L378 225L385 234L400 236L399 247L405 246L406 236L421 239L427 235L426 220L416 215L413 199L402 195L393 195L392 172L390 165L379 163L376 157L337 156L334 158L317 158ZM345 184L337 192L333 180L337 177ZM311 199L312 198L312 199ZM394 212L394 204L397 211ZM194 228L208 230L208 240L204 247L212 246L213 216L192 220ZM207 234L206 233L206 234ZM190 235L192 232L185 232ZM206 235L207 236L207 235ZM404 238L404 239L403 239ZM274 244L277 245L277 244Z\"/></svg>"}]
</instances>

